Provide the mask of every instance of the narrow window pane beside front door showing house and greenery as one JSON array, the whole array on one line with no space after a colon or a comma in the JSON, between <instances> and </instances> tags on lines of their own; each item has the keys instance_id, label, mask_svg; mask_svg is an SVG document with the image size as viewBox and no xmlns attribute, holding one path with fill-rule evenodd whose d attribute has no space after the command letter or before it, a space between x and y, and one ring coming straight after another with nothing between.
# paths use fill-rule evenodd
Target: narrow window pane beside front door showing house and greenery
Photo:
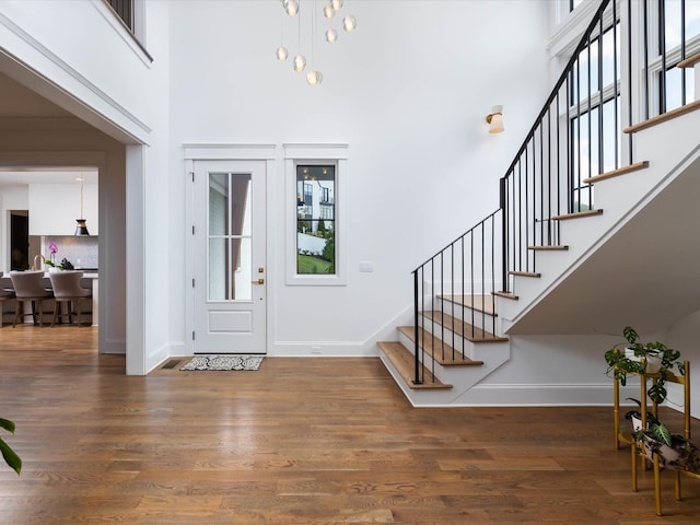
<instances>
[{"instance_id":1,"label":"narrow window pane beside front door showing house and greenery","mask_svg":"<svg viewBox=\"0 0 700 525\"><path fill-rule=\"evenodd\" d=\"M296 166L296 273L336 273L336 166Z\"/></svg>"}]
</instances>

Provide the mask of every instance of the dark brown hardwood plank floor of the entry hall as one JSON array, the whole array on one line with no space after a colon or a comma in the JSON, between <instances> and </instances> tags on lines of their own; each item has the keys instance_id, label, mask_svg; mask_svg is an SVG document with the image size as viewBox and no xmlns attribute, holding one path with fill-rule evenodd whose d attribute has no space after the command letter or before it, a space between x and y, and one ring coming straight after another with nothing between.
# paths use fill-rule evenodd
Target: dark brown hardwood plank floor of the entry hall
<instances>
[{"instance_id":1,"label":"dark brown hardwood plank floor of the entry hall","mask_svg":"<svg viewBox=\"0 0 700 525\"><path fill-rule=\"evenodd\" d=\"M3 327L0 523L697 524L651 471L630 488L611 409L412 409L376 359L124 375L94 328ZM668 417L672 417L669 415ZM700 432L700 430L699 430Z\"/></svg>"}]
</instances>

